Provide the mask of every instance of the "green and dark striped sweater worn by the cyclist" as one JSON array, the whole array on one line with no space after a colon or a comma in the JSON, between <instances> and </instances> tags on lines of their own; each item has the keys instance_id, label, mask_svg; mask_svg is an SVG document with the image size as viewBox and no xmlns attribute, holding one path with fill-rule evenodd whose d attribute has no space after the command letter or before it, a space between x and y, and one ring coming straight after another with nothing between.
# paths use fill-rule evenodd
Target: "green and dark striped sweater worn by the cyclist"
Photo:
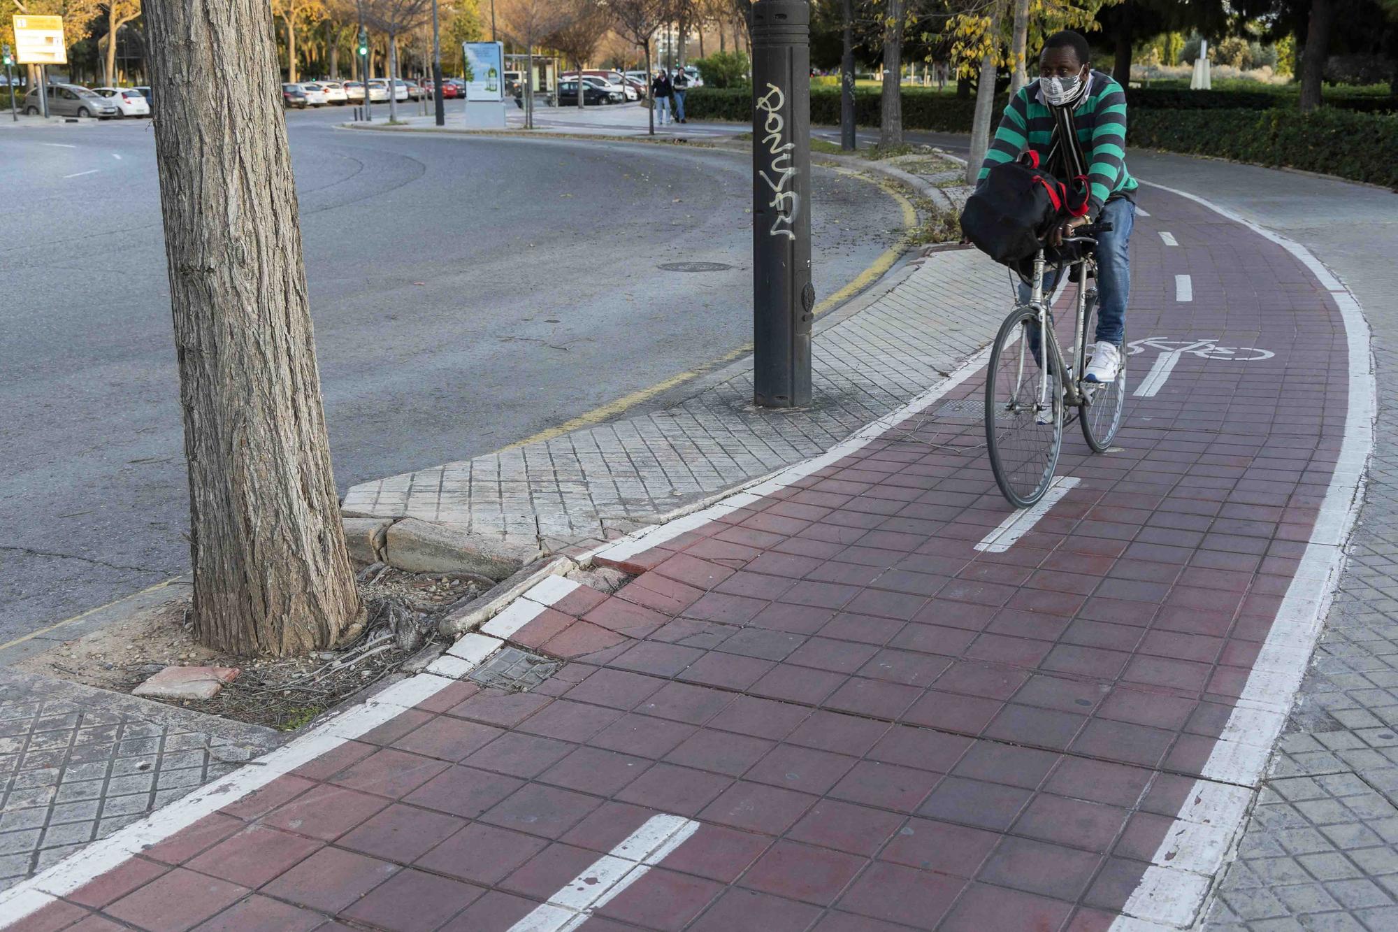
<instances>
[{"instance_id":1,"label":"green and dark striped sweater worn by the cyclist","mask_svg":"<svg viewBox=\"0 0 1398 932\"><path fill-rule=\"evenodd\" d=\"M1132 197L1137 189L1137 181L1127 171L1127 95L1110 74L1092 71L1088 99L1072 112L1072 125L1088 160L1089 213L1096 217L1109 199ZM1009 98L979 178L986 178L993 165L1012 162L1030 148L1047 168L1051 147L1053 115L1039 102L1039 81L1030 81Z\"/></svg>"}]
</instances>

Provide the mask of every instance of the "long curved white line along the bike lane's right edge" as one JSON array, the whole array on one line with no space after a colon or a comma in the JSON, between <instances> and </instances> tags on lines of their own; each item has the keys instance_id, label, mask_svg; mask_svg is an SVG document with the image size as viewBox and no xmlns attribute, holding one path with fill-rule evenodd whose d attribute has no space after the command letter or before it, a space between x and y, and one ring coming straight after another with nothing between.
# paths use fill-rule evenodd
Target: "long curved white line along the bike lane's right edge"
<instances>
[{"instance_id":1,"label":"long curved white line along the bike lane's right edge","mask_svg":"<svg viewBox=\"0 0 1398 932\"><path fill-rule=\"evenodd\" d=\"M1300 243L1264 230L1225 207L1174 188L1145 183L1192 200L1247 227L1286 249L1316 276L1329 291L1345 322L1349 350L1349 404L1339 458L1331 473L1316 528L1311 530L1296 575L1286 588L1257 662L1248 673L1237 705L1199 771L1202 779L1195 781L1186 796L1183 809L1152 858L1152 866L1127 898L1123 914L1111 924L1110 932L1190 926L1195 917L1204 915L1213 877L1222 869L1232 847L1241 840L1243 819L1253 798L1251 788L1261 781L1292 700L1300 689L1307 659L1320 638L1325 613L1329 610L1343 568L1343 546L1363 500L1364 467L1373 451L1377 410L1369 325L1364 322L1363 308L1324 263ZM1183 858L1181 863L1177 855L1183 845L1179 840L1188 837L1188 833L1194 831L1191 826L1197 824L1212 827L1211 842L1205 851L1195 851L1190 858ZM1219 835L1227 842L1218 844Z\"/></svg>"}]
</instances>

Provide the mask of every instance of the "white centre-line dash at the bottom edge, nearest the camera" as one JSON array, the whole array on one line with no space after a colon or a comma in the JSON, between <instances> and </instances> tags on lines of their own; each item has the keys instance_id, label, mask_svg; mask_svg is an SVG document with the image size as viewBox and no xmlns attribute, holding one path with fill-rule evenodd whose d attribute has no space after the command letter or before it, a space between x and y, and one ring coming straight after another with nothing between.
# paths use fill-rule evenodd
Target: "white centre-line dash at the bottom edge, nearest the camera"
<instances>
[{"instance_id":1,"label":"white centre-line dash at the bottom edge, nearest the camera","mask_svg":"<svg viewBox=\"0 0 1398 932\"><path fill-rule=\"evenodd\" d=\"M509 928L509 932L568 932L591 918L591 911L640 880L654 865L699 828L681 816L651 816L625 841L548 898L548 903Z\"/></svg>"}]
</instances>

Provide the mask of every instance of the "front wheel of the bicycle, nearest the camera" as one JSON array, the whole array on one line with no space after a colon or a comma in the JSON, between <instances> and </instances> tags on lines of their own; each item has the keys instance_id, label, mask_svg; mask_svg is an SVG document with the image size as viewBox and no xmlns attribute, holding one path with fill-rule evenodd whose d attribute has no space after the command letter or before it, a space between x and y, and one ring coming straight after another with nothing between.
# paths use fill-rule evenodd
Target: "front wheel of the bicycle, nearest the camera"
<instances>
[{"instance_id":1,"label":"front wheel of the bicycle, nearest the camera","mask_svg":"<svg viewBox=\"0 0 1398 932\"><path fill-rule=\"evenodd\" d=\"M1030 333L1037 327L1032 308L1015 308L1000 326L986 372L990 469L1000 491L1016 508L1028 508L1048 490L1062 446L1062 389L1030 350ZM1040 355L1047 354L1044 347Z\"/></svg>"}]
</instances>

